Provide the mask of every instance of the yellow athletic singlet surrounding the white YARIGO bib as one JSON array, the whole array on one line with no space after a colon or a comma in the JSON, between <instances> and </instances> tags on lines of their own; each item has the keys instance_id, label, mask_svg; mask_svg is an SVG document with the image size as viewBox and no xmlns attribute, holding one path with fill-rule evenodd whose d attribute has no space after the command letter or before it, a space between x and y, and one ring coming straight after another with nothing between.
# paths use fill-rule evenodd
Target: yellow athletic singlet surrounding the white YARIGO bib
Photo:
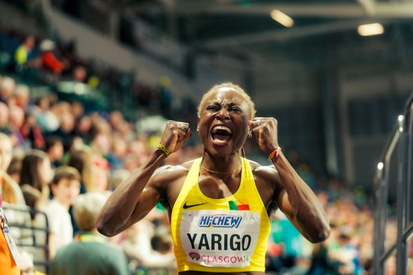
<instances>
[{"instance_id":1,"label":"yellow athletic singlet surrounding the white YARIGO bib","mask_svg":"<svg viewBox=\"0 0 413 275\"><path fill-rule=\"evenodd\" d=\"M172 209L171 232L172 232L174 250L175 250L175 255L176 255L176 261L178 265L178 272L184 272L188 270L203 271L203 272L247 272L247 271L265 272L265 254L267 250L268 235L270 233L270 221L268 219L268 214L266 212L264 203L262 202L262 199L257 190L257 187L255 186L253 173L252 173L248 160L242 158L242 173L241 173L240 187L233 195L231 195L230 197L223 198L223 199L211 199L205 196L204 194L202 194L200 187L198 185L198 177L199 177L201 160L202 160L201 158L195 159L195 162L193 163L191 170L189 170L187 179L185 179L184 181L182 190L180 191L180 194L178 195L178 199L176 200L176 203ZM230 206L229 206L230 201L236 201L238 205L248 206L249 210L244 210L244 211L230 210ZM199 205L195 206L195 204L199 204ZM191 208L189 208L188 206ZM184 208L187 208L187 209L184 209ZM218 214L217 216L229 216L229 215L233 215L234 213L235 214L237 213L255 214L256 215L255 217L258 217L258 219L260 219L260 223L259 225L257 225L260 228L255 229L256 230L255 236L257 236L257 242L255 245L255 249L253 250L253 254L250 258L251 261L249 261L249 265L242 266L242 267L206 266L204 265L204 263L198 264L198 263L193 262L195 260L198 261L199 256L200 254L202 254L202 252L195 250L195 252L197 252L195 254L198 255L198 259L191 261L190 255L193 252L188 253L188 251L187 252L184 251L184 248L183 248L184 243L182 242L181 235L180 235L182 234L181 229L180 229L181 223L185 223L184 221L185 218L182 219L182 217L191 216L191 213L193 212L213 211L213 210L215 210L215 212L222 212L222 214ZM242 213L242 212L250 212L250 213ZM198 220L195 220L195 222L191 223L191 226L195 226L196 228L197 225L198 227L202 226L200 224L201 224L201 221L200 219L198 219ZM240 224L241 224L240 227L244 226L244 223L240 223ZM215 225L209 225L209 227L203 227L203 228L200 228L200 230L209 230L209 228L212 228L212 230L221 230L220 234L222 235L225 234L224 233L224 230L226 230L225 228L216 229L213 227L215 227ZM193 232L196 232L196 230L194 230ZM185 235L183 236L185 238ZM195 235L193 234L193 236ZM233 236L233 234L229 233L227 236L225 236L225 240L231 238L231 236ZM221 241L222 238L220 237L219 240ZM202 238L201 238L201 242L202 242ZM250 243L251 243L251 239L250 239ZM198 245L198 243L196 245ZM222 245L222 247L224 247L224 250L221 250L222 248L221 245L219 246L216 245L216 246L219 247L218 248L218 250L220 250L219 252L226 253L226 250L225 250L226 247L224 247L224 245ZM214 244L212 241L212 248L213 247L214 247ZM233 252L233 253L237 253L237 252ZM229 258L229 259L232 259L232 258ZM220 260L222 260L222 258ZM212 263L211 265L215 265L215 263Z\"/></svg>"}]
</instances>

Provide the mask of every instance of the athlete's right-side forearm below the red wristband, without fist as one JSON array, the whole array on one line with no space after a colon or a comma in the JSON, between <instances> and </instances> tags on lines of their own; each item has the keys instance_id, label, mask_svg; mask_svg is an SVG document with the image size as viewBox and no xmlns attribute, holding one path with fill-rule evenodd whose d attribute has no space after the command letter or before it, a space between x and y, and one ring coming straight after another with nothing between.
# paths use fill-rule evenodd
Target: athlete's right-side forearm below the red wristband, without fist
<instances>
[{"instance_id":1,"label":"athlete's right-side forearm below the red wristband, without fist","mask_svg":"<svg viewBox=\"0 0 413 275\"><path fill-rule=\"evenodd\" d=\"M326 213L313 190L299 177L286 157L279 153L273 158L280 184L288 194L293 208L293 219L301 234L313 243L324 241L330 234L330 225Z\"/></svg>"}]
</instances>

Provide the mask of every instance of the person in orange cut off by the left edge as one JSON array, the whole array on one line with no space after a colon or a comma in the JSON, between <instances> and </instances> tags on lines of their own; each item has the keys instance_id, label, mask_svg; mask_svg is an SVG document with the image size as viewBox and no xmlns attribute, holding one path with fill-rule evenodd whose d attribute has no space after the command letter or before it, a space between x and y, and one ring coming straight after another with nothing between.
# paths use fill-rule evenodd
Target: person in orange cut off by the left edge
<instances>
[{"instance_id":1,"label":"person in orange cut off by the left edge","mask_svg":"<svg viewBox=\"0 0 413 275\"><path fill-rule=\"evenodd\" d=\"M0 165L1 165L1 155L0 155ZM1 220L0 220L0 270L1 274L3 275L19 275L20 270L19 267L17 266L16 262L13 259L12 252L10 251L10 248L8 246L8 243L6 241L6 236L3 232L3 226L4 222L3 219L3 210L1 210L1 204L2 204L2 199L1 199L1 185L3 184L3 173L0 170L0 215L1 215Z\"/></svg>"}]
</instances>

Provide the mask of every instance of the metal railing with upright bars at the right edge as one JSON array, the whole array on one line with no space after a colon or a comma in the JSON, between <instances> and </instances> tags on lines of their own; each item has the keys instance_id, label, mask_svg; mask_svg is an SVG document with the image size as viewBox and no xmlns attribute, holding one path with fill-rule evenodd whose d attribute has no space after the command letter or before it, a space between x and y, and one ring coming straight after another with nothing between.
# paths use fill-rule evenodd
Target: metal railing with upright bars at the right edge
<instances>
[{"instance_id":1,"label":"metal railing with upright bars at the right edge","mask_svg":"<svg viewBox=\"0 0 413 275\"><path fill-rule=\"evenodd\" d=\"M413 93L374 177L373 274L413 274Z\"/></svg>"}]
</instances>

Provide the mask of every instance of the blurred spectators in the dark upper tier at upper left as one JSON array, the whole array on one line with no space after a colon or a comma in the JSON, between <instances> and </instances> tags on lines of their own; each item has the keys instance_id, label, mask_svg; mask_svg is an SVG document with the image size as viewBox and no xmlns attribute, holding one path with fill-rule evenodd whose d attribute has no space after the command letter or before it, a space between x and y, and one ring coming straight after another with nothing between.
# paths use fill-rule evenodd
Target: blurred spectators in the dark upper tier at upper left
<instances>
[{"instance_id":1,"label":"blurred spectators in the dark upper tier at upper left","mask_svg":"<svg viewBox=\"0 0 413 275\"><path fill-rule=\"evenodd\" d=\"M1 25L0 69L16 74L28 85L47 85L78 98L92 97L100 110L122 108L123 113L136 115L138 109L169 117L195 109L189 98L180 100L181 108L172 108L174 98L167 76L160 76L156 85L148 85L136 80L134 69L125 72L100 60L78 56L75 41L52 41Z\"/></svg>"}]
</instances>

